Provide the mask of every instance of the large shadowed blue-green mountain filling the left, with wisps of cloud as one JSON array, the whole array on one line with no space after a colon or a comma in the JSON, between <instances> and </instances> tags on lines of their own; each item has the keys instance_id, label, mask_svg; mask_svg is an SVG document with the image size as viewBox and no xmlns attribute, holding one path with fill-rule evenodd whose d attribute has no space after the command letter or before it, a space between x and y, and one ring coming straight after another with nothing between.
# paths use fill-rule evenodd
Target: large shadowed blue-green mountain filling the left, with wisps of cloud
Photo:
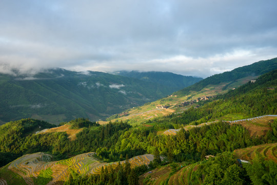
<instances>
[{"instance_id":1,"label":"large shadowed blue-green mountain filling the left, with wisps of cloud","mask_svg":"<svg viewBox=\"0 0 277 185\"><path fill-rule=\"evenodd\" d=\"M0 74L0 123L35 118L59 123L106 118L173 92L159 83L104 72L51 69L28 75Z\"/></svg>"}]
</instances>

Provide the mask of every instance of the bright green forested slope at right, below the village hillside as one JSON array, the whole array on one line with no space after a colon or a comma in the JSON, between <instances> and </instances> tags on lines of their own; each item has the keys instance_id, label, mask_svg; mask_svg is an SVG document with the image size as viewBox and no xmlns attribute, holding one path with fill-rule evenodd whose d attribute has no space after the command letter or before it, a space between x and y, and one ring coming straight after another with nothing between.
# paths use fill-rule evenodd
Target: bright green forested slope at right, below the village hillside
<instances>
[{"instance_id":1,"label":"bright green forested slope at right, below the village hillside","mask_svg":"<svg viewBox=\"0 0 277 185\"><path fill-rule=\"evenodd\" d=\"M265 73L255 83L247 83L230 90L212 101L206 101L201 107L172 114L164 118L149 120L148 123L162 127L180 128L186 124L200 124L215 120L239 120L263 115L277 114L277 70ZM167 125L167 126L166 126ZM171 125L171 126L170 126Z\"/></svg>"}]
</instances>

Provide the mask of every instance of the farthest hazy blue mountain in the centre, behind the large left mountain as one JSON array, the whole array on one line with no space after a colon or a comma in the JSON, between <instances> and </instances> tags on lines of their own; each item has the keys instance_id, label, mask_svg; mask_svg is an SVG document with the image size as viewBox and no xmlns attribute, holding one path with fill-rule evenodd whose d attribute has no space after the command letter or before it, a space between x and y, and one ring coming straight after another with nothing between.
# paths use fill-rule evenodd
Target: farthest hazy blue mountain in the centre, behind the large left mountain
<instances>
[{"instance_id":1,"label":"farthest hazy blue mountain in the centre, behind the large left mountain","mask_svg":"<svg viewBox=\"0 0 277 185\"><path fill-rule=\"evenodd\" d=\"M160 71L117 71L115 72L115 75L136 78L146 82L159 83L161 85L165 85L172 88L174 91L180 90L184 87L190 86L196 82L203 80L203 78L199 77L182 76L174 74L172 72Z\"/></svg>"}]
</instances>

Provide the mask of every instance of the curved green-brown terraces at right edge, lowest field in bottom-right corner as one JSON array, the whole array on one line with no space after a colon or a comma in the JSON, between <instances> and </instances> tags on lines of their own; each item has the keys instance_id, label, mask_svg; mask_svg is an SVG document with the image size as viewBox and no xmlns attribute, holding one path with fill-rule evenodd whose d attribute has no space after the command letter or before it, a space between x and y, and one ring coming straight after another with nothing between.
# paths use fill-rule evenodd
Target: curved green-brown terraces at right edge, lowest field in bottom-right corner
<instances>
[{"instance_id":1,"label":"curved green-brown terraces at right edge, lowest field in bottom-right corner","mask_svg":"<svg viewBox=\"0 0 277 185\"><path fill-rule=\"evenodd\" d=\"M247 161L252 160L257 153L261 154L266 159L272 159L277 163L277 143L261 144L234 151L237 158Z\"/></svg>"}]
</instances>

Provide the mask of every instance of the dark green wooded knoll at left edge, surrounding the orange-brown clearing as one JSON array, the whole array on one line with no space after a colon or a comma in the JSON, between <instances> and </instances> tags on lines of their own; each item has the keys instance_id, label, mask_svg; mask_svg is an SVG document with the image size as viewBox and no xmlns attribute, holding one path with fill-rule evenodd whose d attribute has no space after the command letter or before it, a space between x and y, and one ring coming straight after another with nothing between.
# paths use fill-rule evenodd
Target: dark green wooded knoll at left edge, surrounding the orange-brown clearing
<instances>
[{"instance_id":1,"label":"dark green wooded knoll at left edge, surrounding the orange-brown clearing","mask_svg":"<svg viewBox=\"0 0 277 185\"><path fill-rule=\"evenodd\" d=\"M45 121L33 119L11 121L1 125L0 166L24 154L55 151L58 147L57 143L61 144L62 141L67 140L65 133L34 134L38 129L43 130L53 126Z\"/></svg>"}]
</instances>

